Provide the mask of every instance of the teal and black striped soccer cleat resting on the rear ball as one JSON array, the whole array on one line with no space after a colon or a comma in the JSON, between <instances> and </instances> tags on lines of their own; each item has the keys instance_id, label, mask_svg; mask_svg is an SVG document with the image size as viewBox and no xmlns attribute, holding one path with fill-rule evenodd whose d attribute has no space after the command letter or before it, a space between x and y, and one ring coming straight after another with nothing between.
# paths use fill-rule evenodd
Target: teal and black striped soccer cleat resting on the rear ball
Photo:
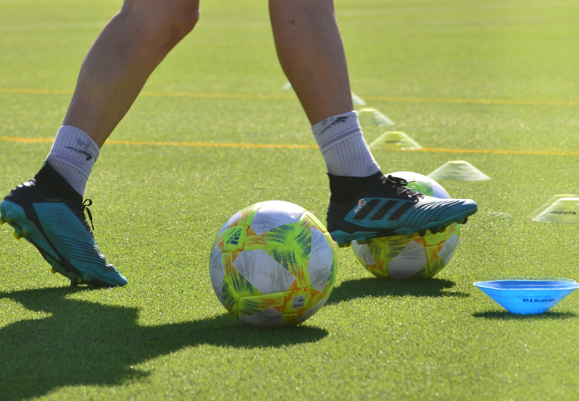
<instances>
[{"instance_id":1,"label":"teal and black striped soccer cleat resting on the rear ball","mask_svg":"<svg viewBox=\"0 0 579 401\"><path fill-rule=\"evenodd\" d=\"M328 232L338 246L351 240L364 243L373 237L411 236L416 232L442 231L448 225L464 224L477 213L472 199L439 199L406 188L406 180L382 177L380 183L362 191L350 205L330 202Z\"/></svg>"}]
</instances>

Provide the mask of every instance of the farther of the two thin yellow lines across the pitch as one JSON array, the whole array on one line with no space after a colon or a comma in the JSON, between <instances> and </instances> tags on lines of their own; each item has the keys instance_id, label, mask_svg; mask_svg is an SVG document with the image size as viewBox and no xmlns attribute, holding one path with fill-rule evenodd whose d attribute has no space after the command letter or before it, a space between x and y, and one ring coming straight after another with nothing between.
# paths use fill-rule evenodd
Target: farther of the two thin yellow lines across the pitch
<instances>
[{"instance_id":1,"label":"farther of the two thin yellow lines across the pitch","mask_svg":"<svg viewBox=\"0 0 579 401\"><path fill-rule=\"evenodd\" d=\"M20 89L0 88L0 93L19 94L56 94L72 95L70 90L49 89ZM141 96L155 96L168 98L216 98L216 99L296 99L291 95L259 95L259 94L218 94L218 93L194 93L194 92L141 92ZM387 96L365 96L369 101L402 102L402 103L475 103L481 105L531 105L531 106L579 106L576 101L521 101L503 99L444 99L444 98L393 98Z\"/></svg>"}]
</instances>

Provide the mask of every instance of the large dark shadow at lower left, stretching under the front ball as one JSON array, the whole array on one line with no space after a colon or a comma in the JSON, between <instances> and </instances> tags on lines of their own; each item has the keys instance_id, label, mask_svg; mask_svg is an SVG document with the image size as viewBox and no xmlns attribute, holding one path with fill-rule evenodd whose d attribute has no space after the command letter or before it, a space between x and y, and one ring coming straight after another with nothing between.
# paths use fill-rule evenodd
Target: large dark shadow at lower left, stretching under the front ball
<instances>
[{"instance_id":1,"label":"large dark shadow at lower left, stretching under the front ball","mask_svg":"<svg viewBox=\"0 0 579 401\"><path fill-rule=\"evenodd\" d=\"M281 347L328 335L298 326L257 329L223 314L159 326L137 323L138 309L66 296L90 289L43 288L0 294L25 308L52 314L0 329L0 399L41 396L68 385L107 385L146 376L131 367L184 347Z\"/></svg>"}]
</instances>

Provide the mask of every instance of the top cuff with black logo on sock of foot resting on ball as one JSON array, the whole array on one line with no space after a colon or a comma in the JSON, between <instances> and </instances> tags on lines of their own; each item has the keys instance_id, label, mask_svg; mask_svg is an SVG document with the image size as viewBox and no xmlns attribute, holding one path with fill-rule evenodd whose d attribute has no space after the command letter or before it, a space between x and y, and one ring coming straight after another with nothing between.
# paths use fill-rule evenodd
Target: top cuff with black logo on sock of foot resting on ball
<instances>
[{"instance_id":1,"label":"top cuff with black logo on sock of foot resting on ball","mask_svg":"<svg viewBox=\"0 0 579 401\"><path fill-rule=\"evenodd\" d=\"M324 154L329 148L354 136L362 135L358 112L353 110L326 118L312 126L312 133L320 146L321 153Z\"/></svg>"}]
</instances>

